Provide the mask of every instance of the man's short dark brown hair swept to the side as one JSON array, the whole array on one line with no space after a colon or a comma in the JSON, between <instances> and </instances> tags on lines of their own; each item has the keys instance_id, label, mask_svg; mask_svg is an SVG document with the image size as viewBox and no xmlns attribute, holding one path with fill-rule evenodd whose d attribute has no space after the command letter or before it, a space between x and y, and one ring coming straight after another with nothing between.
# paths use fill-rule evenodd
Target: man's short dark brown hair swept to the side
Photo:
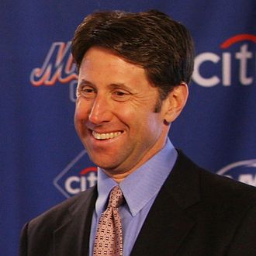
<instances>
[{"instance_id":1,"label":"man's short dark brown hair swept to the side","mask_svg":"<svg viewBox=\"0 0 256 256\"><path fill-rule=\"evenodd\" d=\"M161 99L171 89L189 84L194 47L188 29L163 12L95 12L85 17L72 40L71 51L79 67L85 52L104 47L130 63L143 67Z\"/></svg>"}]
</instances>

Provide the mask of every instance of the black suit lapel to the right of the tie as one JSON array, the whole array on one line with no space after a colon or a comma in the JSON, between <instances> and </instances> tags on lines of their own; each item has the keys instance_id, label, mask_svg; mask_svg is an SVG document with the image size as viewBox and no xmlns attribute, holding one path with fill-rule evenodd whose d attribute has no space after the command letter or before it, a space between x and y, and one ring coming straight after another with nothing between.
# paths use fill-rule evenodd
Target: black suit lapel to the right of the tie
<instances>
[{"instance_id":1,"label":"black suit lapel to the right of the tie","mask_svg":"<svg viewBox=\"0 0 256 256\"><path fill-rule=\"evenodd\" d=\"M175 255L195 221L187 214L199 202L199 171L179 153L134 244L135 255Z\"/></svg>"}]
</instances>

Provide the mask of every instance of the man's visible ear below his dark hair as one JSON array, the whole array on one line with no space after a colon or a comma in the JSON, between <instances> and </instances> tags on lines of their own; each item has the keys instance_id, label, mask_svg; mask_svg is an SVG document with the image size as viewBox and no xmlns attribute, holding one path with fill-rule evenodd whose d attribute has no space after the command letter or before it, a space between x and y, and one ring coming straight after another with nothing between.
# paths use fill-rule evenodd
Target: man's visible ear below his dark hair
<instances>
[{"instance_id":1,"label":"man's visible ear below his dark hair","mask_svg":"<svg viewBox=\"0 0 256 256\"><path fill-rule=\"evenodd\" d=\"M164 99L164 121L167 123L173 122L182 109L189 97L189 88L186 83L175 86L169 93L168 97Z\"/></svg>"}]
</instances>

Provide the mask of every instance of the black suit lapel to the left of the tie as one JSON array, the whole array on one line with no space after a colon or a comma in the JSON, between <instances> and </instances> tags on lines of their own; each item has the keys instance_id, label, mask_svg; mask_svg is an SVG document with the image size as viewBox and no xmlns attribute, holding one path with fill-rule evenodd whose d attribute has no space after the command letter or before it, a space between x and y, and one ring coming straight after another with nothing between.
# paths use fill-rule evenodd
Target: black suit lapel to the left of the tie
<instances>
[{"instance_id":1,"label":"black suit lapel to the left of the tie","mask_svg":"<svg viewBox=\"0 0 256 256\"><path fill-rule=\"evenodd\" d=\"M71 206L64 224L54 231L54 255L88 255L92 213L97 198L96 187L80 195Z\"/></svg>"}]
</instances>

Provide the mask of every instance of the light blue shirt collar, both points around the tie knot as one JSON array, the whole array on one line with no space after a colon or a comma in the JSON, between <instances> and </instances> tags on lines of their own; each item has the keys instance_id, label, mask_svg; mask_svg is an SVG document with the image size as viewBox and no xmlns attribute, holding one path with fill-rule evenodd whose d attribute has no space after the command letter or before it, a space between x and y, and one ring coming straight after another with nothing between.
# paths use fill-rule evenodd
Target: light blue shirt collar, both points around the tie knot
<instances>
[{"instance_id":1,"label":"light blue shirt collar, both points around the tie knot","mask_svg":"<svg viewBox=\"0 0 256 256\"><path fill-rule=\"evenodd\" d=\"M143 209L147 202L157 195L165 179L171 172L177 155L175 147L173 147L171 141L168 139L164 147L157 154L141 165L140 168L137 168L136 171L133 171L123 182L119 183L132 216L136 216L140 209ZM116 185L118 183L112 180L112 178L109 178L99 168L99 196L95 205L98 216L106 209L109 192Z\"/></svg>"}]
</instances>

